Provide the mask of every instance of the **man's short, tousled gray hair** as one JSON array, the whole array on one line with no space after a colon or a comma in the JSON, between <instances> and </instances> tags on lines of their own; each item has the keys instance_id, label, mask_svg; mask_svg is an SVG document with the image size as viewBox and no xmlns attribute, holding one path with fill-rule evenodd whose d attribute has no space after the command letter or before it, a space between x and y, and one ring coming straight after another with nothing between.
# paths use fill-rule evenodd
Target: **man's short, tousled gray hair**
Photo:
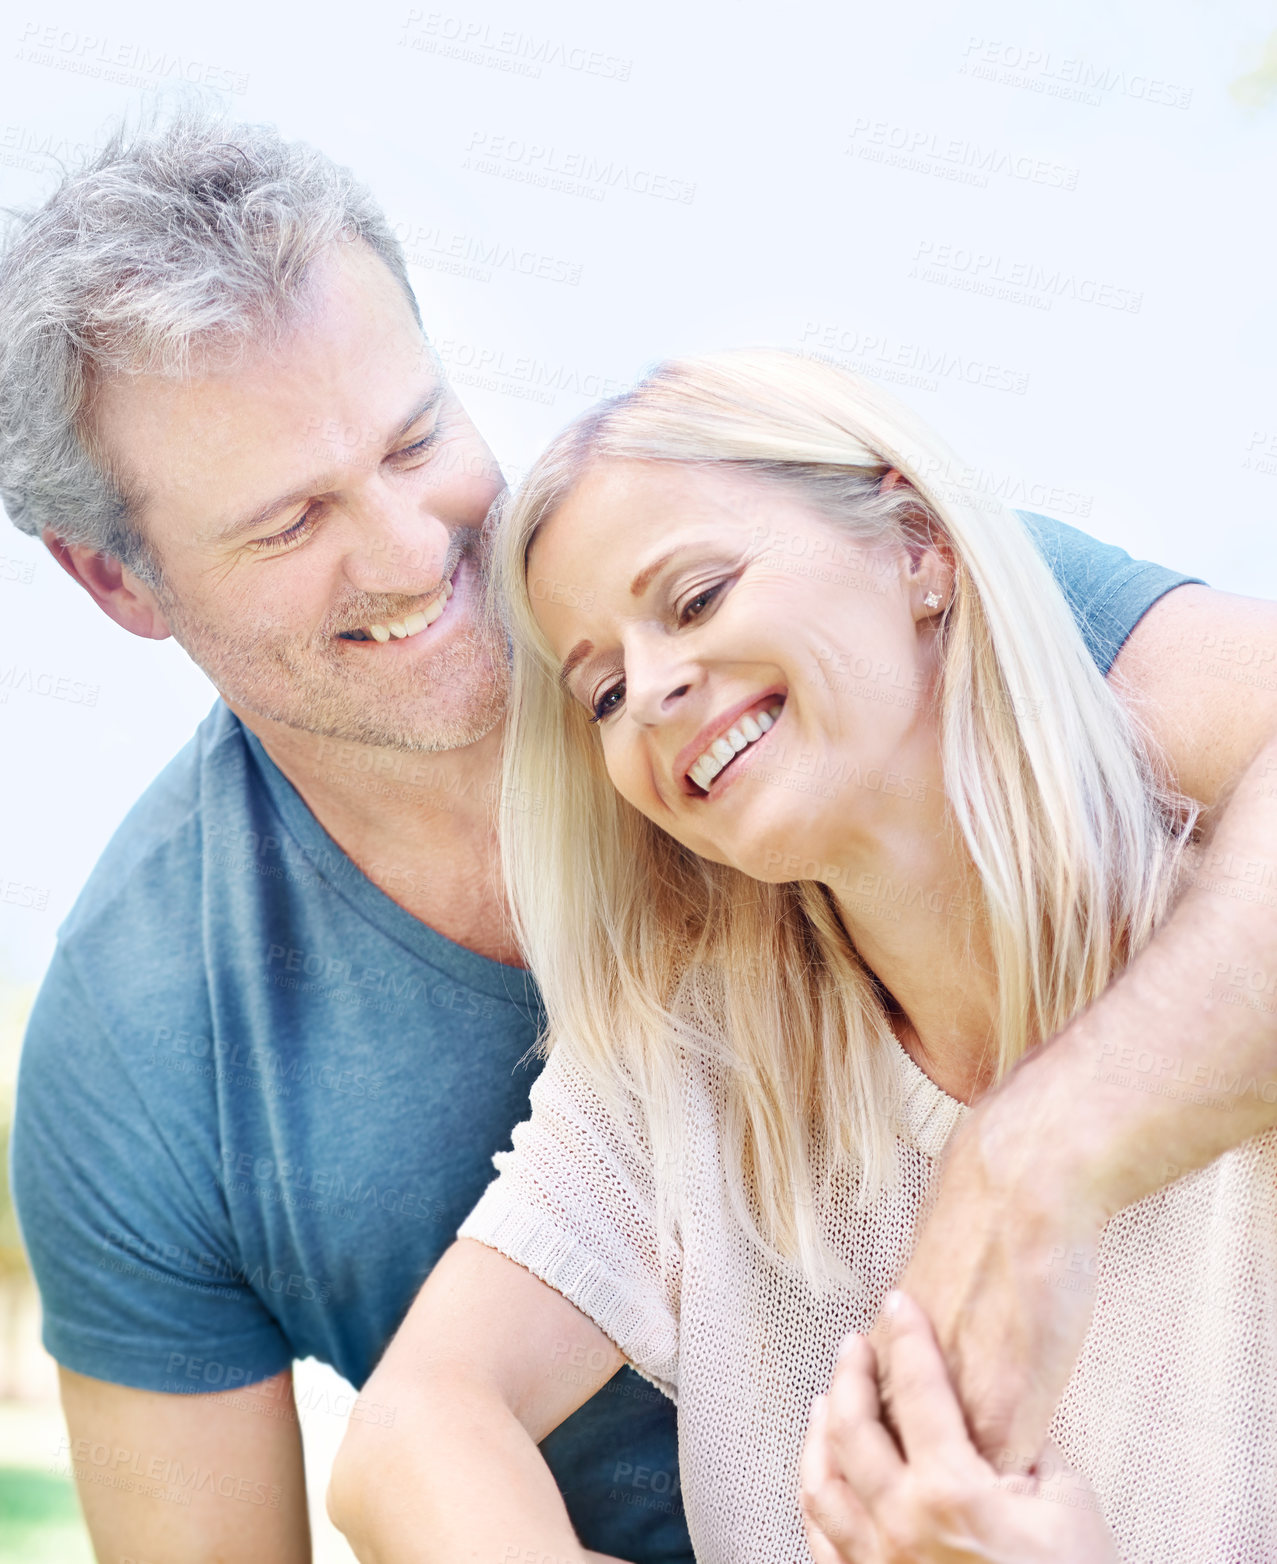
<instances>
[{"instance_id":1,"label":"man's short, tousled gray hair","mask_svg":"<svg viewBox=\"0 0 1277 1564\"><path fill-rule=\"evenodd\" d=\"M85 438L94 378L185 375L210 352L282 330L311 263L363 239L413 299L399 241L371 192L269 125L183 103L121 125L0 255L0 499L33 536L122 560L160 582L122 479Z\"/></svg>"}]
</instances>

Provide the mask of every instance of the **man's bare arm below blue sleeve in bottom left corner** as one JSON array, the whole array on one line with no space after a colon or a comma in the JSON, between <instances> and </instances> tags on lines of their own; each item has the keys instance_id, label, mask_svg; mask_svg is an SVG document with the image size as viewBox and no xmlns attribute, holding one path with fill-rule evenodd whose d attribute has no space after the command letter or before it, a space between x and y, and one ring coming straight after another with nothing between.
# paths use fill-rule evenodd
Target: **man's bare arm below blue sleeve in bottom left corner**
<instances>
[{"instance_id":1,"label":"man's bare arm below blue sleeve in bottom left corner","mask_svg":"<svg viewBox=\"0 0 1277 1564\"><path fill-rule=\"evenodd\" d=\"M291 1372L210 1395L69 1368L59 1379L66 1459L102 1564L310 1564Z\"/></svg>"}]
</instances>

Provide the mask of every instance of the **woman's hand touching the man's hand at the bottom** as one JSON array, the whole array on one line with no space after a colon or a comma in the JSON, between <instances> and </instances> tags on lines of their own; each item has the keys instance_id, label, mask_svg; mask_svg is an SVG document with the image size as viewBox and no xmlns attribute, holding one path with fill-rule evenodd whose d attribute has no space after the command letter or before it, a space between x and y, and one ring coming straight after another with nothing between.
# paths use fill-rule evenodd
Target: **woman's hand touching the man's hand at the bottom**
<instances>
[{"instance_id":1,"label":"woman's hand touching the man's hand at the bottom","mask_svg":"<svg viewBox=\"0 0 1277 1564\"><path fill-rule=\"evenodd\" d=\"M883 1422L873 1348L848 1336L803 1448L815 1564L1117 1564L1086 1478L1055 1447L1049 1475L1000 1476L970 1442L926 1315L903 1292L884 1315L900 1444Z\"/></svg>"}]
</instances>

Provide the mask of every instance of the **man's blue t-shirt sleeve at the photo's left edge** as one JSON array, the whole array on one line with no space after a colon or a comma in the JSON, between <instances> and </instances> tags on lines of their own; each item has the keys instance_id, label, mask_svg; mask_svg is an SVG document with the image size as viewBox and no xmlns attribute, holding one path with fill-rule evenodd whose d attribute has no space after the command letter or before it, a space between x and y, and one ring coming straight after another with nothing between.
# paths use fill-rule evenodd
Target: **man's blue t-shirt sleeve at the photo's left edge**
<instances>
[{"instance_id":1,"label":"man's blue t-shirt sleeve at the photo's left edge","mask_svg":"<svg viewBox=\"0 0 1277 1564\"><path fill-rule=\"evenodd\" d=\"M166 1103L59 948L22 1048L11 1148L44 1345L136 1389L254 1384L293 1353L246 1284L210 1146Z\"/></svg>"}]
</instances>

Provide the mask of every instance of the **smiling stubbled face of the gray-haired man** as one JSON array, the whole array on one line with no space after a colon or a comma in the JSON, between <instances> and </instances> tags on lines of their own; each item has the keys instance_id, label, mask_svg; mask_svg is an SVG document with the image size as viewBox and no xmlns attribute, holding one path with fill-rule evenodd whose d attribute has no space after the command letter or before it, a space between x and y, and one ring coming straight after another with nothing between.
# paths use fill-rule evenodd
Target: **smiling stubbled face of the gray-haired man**
<instances>
[{"instance_id":1,"label":"smiling stubbled face of the gray-haired man","mask_svg":"<svg viewBox=\"0 0 1277 1564\"><path fill-rule=\"evenodd\" d=\"M498 723L482 527L501 474L371 249L316 263L279 346L105 380L89 433L135 497L164 621L233 705L396 749Z\"/></svg>"}]
</instances>

